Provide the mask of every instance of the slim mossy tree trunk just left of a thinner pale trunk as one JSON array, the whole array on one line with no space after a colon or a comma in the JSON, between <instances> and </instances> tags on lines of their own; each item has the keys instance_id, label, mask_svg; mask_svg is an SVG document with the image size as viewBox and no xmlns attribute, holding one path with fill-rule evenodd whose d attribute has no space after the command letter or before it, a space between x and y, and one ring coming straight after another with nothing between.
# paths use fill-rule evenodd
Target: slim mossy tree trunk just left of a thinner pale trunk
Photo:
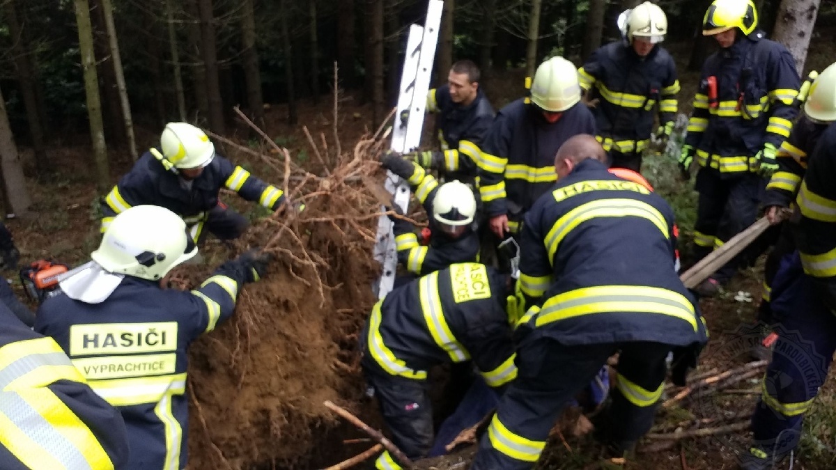
<instances>
[{"instance_id":1,"label":"slim mossy tree trunk just left of a thinner pale trunk","mask_svg":"<svg viewBox=\"0 0 836 470\"><path fill-rule=\"evenodd\" d=\"M79 51L81 52L81 68L84 70L84 92L87 96L90 138L93 141L96 187L99 194L104 194L110 190L110 166L107 159L107 145L104 142L104 122L102 121L101 100L99 100L99 78L96 74L90 5L87 0L74 0L74 6L75 19L79 24Z\"/></svg>"}]
</instances>

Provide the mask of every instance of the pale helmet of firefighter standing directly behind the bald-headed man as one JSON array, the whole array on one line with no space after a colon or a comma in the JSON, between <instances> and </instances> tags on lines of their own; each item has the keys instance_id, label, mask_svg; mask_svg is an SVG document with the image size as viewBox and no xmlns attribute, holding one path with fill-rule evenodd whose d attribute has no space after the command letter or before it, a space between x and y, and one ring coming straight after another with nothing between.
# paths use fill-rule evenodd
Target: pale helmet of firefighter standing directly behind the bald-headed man
<instances>
[{"instance_id":1,"label":"pale helmet of firefighter standing directly behind the bald-headed man","mask_svg":"<svg viewBox=\"0 0 836 470\"><path fill-rule=\"evenodd\" d=\"M540 64L531 84L531 102L540 109L559 113L580 101L578 69L562 57Z\"/></svg>"}]
</instances>

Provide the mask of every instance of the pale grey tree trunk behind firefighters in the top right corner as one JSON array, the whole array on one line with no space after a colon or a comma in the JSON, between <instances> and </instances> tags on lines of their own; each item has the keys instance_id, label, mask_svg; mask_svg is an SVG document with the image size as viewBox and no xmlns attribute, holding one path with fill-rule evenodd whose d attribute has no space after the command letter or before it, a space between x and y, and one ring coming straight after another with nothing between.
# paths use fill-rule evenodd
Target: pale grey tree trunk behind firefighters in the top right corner
<instances>
[{"instance_id":1,"label":"pale grey tree trunk behind firefighters in the top right corner","mask_svg":"<svg viewBox=\"0 0 836 470\"><path fill-rule=\"evenodd\" d=\"M793 54L798 74L803 72L807 60L819 3L820 0L782 0L778 8L772 39L787 46Z\"/></svg>"}]
</instances>

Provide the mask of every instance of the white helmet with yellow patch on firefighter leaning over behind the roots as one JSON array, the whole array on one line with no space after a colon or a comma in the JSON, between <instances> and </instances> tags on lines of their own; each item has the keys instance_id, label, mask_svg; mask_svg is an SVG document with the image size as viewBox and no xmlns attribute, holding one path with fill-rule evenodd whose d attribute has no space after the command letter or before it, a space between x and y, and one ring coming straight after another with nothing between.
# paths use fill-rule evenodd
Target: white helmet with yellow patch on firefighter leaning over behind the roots
<instances>
[{"instance_id":1,"label":"white helmet with yellow patch on firefighter leaning over behind the roots","mask_svg":"<svg viewBox=\"0 0 836 470\"><path fill-rule=\"evenodd\" d=\"M205 132L187 122L170 122L160 136L162 155L177 168L202 168L215 158L215 145Z\"/></svg>"}]
</instances>

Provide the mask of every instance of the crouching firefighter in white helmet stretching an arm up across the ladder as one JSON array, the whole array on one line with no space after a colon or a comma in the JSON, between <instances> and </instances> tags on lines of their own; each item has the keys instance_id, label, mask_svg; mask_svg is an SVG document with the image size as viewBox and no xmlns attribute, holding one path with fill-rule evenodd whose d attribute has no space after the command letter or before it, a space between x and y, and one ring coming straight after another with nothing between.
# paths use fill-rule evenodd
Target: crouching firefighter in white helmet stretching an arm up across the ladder
<instances>
[{"instance_id":1,"label":"crouching firefighter in white helmet stretching an arm up across the ladder","mask_svg":"<svg viewBox=\"0 0 836 470\"><path fill-rule=\"evenodd\" d=\"M473 229L476 198L470 186L455 180L439 185L421 166L397 154L385 156L382 163L387 170L410 182L430 220L429 243L421 244L410 222L390 217L398 261L411 276L432 273L452 263L477 261L479 238ZM393 204L393 207L398 206ZM396 211L400 212L400 207Z\"/></svg>"}]
</instances>

